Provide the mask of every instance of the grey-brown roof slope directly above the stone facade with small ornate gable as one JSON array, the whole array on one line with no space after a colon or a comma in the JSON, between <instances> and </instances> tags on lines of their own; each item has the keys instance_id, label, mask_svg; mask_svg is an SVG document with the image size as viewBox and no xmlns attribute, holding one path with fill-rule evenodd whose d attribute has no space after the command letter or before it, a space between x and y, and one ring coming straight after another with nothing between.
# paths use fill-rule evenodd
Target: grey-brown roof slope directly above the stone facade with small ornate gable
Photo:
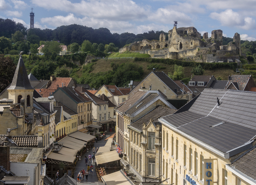
<instances>
[{"instance_id":1,"label":"grey-brown roof slope directly above the stone facade with small ornate gable","mask_svg":"<svg viewBox=\"0 0 256 185\"><path fill-rule=\"evenodd\" d=\"M153 123L158 122L159 117L170 115L175 113L175 109L171 109L168 107L158 106L154 108L152 111L148 112L147 114L143 115L141 118L137 119L136 121L133 121L129 127L136 128L137 130L142 131L143 124L149 123L150 119L152 119Z\"/></svg>"}]
</instances>

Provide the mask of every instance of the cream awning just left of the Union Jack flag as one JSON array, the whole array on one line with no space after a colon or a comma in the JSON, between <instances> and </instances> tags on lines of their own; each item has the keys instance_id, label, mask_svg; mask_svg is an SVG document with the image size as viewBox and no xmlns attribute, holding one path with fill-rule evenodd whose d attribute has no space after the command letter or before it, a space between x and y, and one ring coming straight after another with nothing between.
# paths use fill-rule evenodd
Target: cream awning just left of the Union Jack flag
<instances>
[{"instance_id":1,"label":"cream awning just left of the Union Jack flag","mask_svg":"<svg viewBox=\"0 0 256 185\"><path fill-rule=\"evenodd\" d=\"M98 152L95 155L97 165L120 160L119 155L116 152L116 150L112 150L112 151L108 151L108 152L101 152L100 148L99 148Z\"/></svg>"}]
</instances>

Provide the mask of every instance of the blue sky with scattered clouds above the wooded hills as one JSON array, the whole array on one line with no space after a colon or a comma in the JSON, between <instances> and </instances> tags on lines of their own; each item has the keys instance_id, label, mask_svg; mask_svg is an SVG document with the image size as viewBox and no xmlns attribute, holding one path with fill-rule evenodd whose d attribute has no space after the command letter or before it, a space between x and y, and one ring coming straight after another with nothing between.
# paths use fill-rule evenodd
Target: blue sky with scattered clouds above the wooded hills
<instances>
[{"instance_id":1,"label":"blue sky with scattered clouds above the wooded hills","mask_svg":"<svg viewBox=\"0 0 256 185\"><path fill-rule=\"evenodd\" d=\"M256 0L0 0L0 18L30 27L55 29L79 24L111 33L142 34L179 27L195 27L201 35L222 30L224 37L240 34L256 40Z\"/></svg>"}]
</instances>

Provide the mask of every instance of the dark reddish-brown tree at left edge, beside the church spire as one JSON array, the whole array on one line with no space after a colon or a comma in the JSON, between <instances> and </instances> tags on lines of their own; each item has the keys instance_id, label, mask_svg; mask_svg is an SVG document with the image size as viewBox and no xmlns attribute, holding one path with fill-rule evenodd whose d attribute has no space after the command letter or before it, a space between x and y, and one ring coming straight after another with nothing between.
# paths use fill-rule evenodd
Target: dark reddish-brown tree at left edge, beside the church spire
<instances>
[{"instance_id":1,"label":"dark reddish-brown tree at left edge, beside the church spire","mask_svg":"<svg viewBox=\"0 0 256 185\"><path fill-rule=\"evenodd\" d=\"M0 92L11 84L16 66L10 57L0 55Z\"/></svg>"}]
</instances>

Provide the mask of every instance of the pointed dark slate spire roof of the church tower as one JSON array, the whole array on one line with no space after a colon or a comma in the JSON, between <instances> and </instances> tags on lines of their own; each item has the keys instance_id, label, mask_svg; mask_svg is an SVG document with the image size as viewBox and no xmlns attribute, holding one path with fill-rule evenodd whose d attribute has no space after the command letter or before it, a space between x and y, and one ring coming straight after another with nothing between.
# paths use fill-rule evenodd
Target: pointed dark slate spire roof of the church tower
<instances>
[{"instance_id":1,"label":"pointed dark slate spire roof of the church tower","mask_svg":"<svg viewBox=\"0 0 256 185\"><path fill-rule=\"evenodd\" d=\"M11 86L8 88L8 89L11 89L11 90L14 90L14 89L34 89L29 80L28 80L28 74L27 74L27 71L26 71L26 68L25 68L25 64L23 62L23 59L22 57L20 57L19 61L18 61L18 64L17 64L17 67L16 67L16 71L14 73L14 77L13 77L13 80L11 82Z\"/></svg>"}]
</instances>

